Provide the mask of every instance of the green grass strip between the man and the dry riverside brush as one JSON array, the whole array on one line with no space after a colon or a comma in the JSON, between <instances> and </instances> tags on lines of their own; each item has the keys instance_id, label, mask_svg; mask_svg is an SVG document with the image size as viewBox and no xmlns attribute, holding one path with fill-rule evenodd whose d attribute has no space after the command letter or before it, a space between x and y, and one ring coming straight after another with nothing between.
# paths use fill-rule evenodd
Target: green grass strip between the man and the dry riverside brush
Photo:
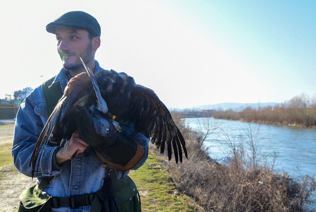
<instances>
[{"instance_id":1,"label":"green grass strip between the man and the dry riverside brush","mask_svg":"<svg viewBox=\"0 0 316 212\"><path fill-rule=\"evenodd\" d=\"M146 163L130 171L140 193L142 211L199 211L200 208L181 192L164 168L164 161L149 152Z\"/></svg>"}]
</instances>

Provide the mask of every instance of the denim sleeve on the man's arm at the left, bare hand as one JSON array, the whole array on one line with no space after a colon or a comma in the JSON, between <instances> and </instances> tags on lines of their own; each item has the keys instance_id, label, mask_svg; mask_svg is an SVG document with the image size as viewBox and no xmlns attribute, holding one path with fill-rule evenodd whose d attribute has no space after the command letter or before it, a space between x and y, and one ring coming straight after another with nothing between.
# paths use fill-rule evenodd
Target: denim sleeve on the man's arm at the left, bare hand
<instances>
[{"instance_id":1,"label":"denim sleeve on the man's arm at the left, bare hand","mask_svg":"<svg viewBox=\"0 0 316 212\"><path fill-rule=\"evenodd\" d=\"M35 93L37 90L35 90ZM38 92L37 92L37 95ZM17 169L31 176L30 167L31 156L36 141L41 134L44 124L47 121L45 100L31 101L32 93L21 104L16 117L14 130L12 156ZM44 146L44 151L39 155L37 164L38 171L35 171L34 177L43 175L57 175L61 170L52 170L52 157L58 147Z\"/></svg>"}]
</instances>

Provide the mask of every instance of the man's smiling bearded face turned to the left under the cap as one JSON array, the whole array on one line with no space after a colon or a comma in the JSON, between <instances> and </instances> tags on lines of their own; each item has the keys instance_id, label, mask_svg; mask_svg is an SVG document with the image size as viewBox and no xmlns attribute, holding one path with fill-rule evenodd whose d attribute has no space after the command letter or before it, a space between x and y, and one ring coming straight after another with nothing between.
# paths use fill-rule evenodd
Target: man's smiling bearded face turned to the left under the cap
<instances>
[{"instance_id":1,"label":"man's smiling bearded face turned to the left under the cap","mask_svg":"<svg viewBox=\"0 0 316 212\"><path fill-rule=\"evenodd\" d=\"M85 64L94 58L88 31L57 27L55 34L58 53L65 69L75 72L82 69L79 56Z\"/></svg>"}]
</instances>

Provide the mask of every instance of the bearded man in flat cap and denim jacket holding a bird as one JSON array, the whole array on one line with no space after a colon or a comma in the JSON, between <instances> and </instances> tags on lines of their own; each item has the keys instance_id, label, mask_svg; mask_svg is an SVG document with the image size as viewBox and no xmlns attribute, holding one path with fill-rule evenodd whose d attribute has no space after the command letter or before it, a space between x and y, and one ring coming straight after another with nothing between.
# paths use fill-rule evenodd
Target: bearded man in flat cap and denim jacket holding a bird
<instances>
[{"instance_id":1,"label":"bearded man in flat cap and denim jacket holding a bird","mask_svg":"<svg viewBox=\"0 0 316 212\"><path fill-rule=\"evenodd\" d=\"M94 72L102 70L94 59L95 52L101 43L101 29L97 20L91 15L80 11L69 12L48 24L46 30L56 35L63 69L51 81L36 88L24 100L18 111L12 155L15 166L27 176L31 176L30 159L35 143L47 122L49 113L57 103L56 99L61 97L72 77L85 72L79 56L90 70ZM127 125L122 122L121 127L120 134L123 139L128 142L139 142L145 149L145 153L138 151L135 153L143 154L142 159L133 164L132 169L137 169L147 159L149 138L141 133L135 133L133 124ZM53 137L53 139L56 141L57 138ZM121 141L118 138L115 142ZM115 149L112 154L116 154ZM76 156L73 157L74 155ZM110 193L107 189L111 187L106 187L103 183L106 179L105 170L111 176L119 211L140 211L137 190L127 176L129 170L109 169L101 162L100 157L96 155L93 147L88 146L84 139L79 137L76 131L67 145L47 145L38 161L39 170L35 172L35 177L38 177L40 184L38 187L28 189L20 196L23 205L20 205L21 211L32 207L42 207L42 211L44 211L43 208L48 208L48 211L103 211L108 207L109 199L106 195ZM132 190L132 196L127 198L124 189L129 188ZM117 190L124 191L125 196L122 197L116 192ZM37 199L34 199L34 196ZM37 205L35 202L38 199L45 201Z\"/></svg>"}]
</instances>

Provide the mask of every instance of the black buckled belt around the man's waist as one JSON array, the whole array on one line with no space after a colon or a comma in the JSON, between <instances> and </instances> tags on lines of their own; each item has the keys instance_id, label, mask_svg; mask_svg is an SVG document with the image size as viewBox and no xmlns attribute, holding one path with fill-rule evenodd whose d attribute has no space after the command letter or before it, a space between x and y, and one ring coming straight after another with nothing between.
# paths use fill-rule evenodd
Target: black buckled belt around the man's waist
<instances>
[{"instance_id":1,"label":"black buckled belt around the man's waist","mask_svg":"<svg viewBox=\"0 0 316 212\"><path fill-rule=\"evenodd\" d=\"M59 207L81 207L86 205L91 205L94 199L95 193L87 193L83 195L76 195L76 196L65 196L65 197L58 197L52 196L50 198L51 206L53 208Z\"/></svg>"}]
</instances>

